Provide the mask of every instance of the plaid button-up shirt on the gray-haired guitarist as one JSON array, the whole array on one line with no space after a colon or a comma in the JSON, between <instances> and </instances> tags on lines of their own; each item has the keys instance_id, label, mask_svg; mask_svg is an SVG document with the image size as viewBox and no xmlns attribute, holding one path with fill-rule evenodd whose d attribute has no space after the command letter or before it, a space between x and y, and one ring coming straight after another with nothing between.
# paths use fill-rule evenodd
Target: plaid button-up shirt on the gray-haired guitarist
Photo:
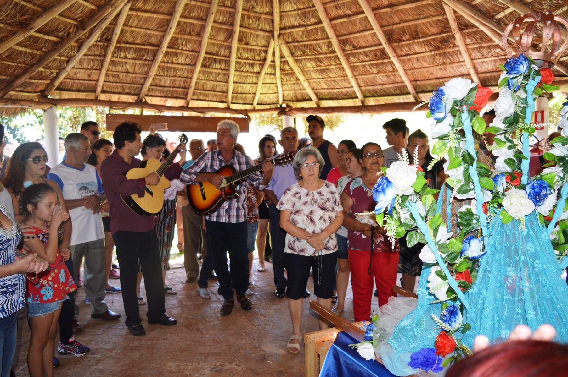
<instances>
[{"instance_id":1,"label":"plaid button-up shirt on the gray-haired guitarist","mask_svg":"<svg viewBox=\"0 0 568 377\"><path fill-rule=\"evenodd\" d=\"M209 151L204 153L195 162L184 170L179 177L179 180L185 184L195 184L195 179L199 173L214 173L227 163L223 160L220 151ZM233 150L233 159L229 161L236 171L245 170L254 166L253 160L237 150ZM225 223L240 223L247 221L247 184L253 185L258 190L264 190L265 185L261 185L262 175L256 172L249 175L244 179L244 183L237 186L236 190L239 197L236 199L228 200L216 210L214 213L206 215L209 221L218 221Z\"/></svg>"}]
</instances>

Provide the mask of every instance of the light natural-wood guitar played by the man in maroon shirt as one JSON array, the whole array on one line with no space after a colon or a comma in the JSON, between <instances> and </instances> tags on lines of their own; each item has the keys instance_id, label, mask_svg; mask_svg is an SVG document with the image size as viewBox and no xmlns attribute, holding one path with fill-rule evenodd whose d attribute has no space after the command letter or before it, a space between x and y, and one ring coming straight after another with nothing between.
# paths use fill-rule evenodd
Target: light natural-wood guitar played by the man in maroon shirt
<instances>
[{"instance_id":1,"label":"light natural-wood guitar played by the man in maroon shirt","mask_svg":"<svg viewBox=\"0 0 568 377\"><path fill-rule=\"evenodd\" d=\"M179 137L179 145L185 145L187 143L187 136L182 134ZM145 176L156 172L160 181L157 185L147 185L144 190L144 196L138 196L138 194L133 194L131 196L123 196L122 200L126 203L134 213L140 216L150 216L160 212L164 206L164 191L166 188L170 187L170 181L164 177L164 173L170 165L173 163L174 159L178 155L178 147L170 153L168 158L164 162L160 162L155 158L149 158L140 164L139 168L133 168L126 173L127 179L140 179Z\"/></svg>"}]
</instances>

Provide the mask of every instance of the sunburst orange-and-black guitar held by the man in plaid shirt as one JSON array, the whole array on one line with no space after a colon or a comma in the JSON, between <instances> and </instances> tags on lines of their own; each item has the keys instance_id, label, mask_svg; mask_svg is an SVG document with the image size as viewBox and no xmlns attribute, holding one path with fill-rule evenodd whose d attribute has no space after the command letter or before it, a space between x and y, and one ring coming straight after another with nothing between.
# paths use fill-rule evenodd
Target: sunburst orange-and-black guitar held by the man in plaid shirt
<instances>
[{"instance_id":1,"label":"sunburst orange-and-black guitar held by the man in plaid shirt","mask_svg":"<svg viewBox=\"0 0 568 377\"><path fill-rule=\"evenodd\" d=\"M294 160L293 153L286 153L270 159L274 165L287 165ZM215 173L223 176L223 183L216 187L209 181L187 185L187 198L191 208L200 215L214 213L227 200L239 197L236 187L243 183L243 179L262 170L262 164L249 167L239 172L232 165L225 165Z\"/></svg>"}]
</instances>

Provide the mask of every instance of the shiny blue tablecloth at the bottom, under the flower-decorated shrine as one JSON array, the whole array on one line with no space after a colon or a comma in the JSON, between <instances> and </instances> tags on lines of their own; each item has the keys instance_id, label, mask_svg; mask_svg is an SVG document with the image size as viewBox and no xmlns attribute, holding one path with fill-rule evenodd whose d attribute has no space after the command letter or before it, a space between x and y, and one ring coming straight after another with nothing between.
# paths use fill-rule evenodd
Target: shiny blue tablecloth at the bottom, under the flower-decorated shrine
<instances>
[{"instance_id":1,"label":"shiny blue tablecloth at the bottom, under the flower-decorated shrine","mask_svg":"<svg viewBox=\"0 0 568 377\"><path fill-rule=\"evenodd\" d=\"M365 360L356 349L349 347L350 344L356 343L358 341L348 333L337 333L337 338L321 366L320 377L396 377L378 361Z\"/></svg>"}]
</instances>

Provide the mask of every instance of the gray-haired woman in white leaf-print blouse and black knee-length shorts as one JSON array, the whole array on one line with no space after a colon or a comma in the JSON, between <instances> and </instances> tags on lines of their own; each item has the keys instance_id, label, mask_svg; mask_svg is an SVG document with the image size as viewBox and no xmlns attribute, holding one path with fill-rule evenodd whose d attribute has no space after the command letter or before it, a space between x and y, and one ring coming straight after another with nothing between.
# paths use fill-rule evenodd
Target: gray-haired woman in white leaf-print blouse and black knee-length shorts
<instances>
[{"instance_id":1,"label":"gray-haired woman in white leaf-print blouse and black knee-length shorts","mask_svg":"<svg viewBox=\"0 0 568 377\"><path fill-rule=\"evenodd\" d=\"M318 303L331 309L333 275L337 262L335 232L343 223L343 207L335 185L320 179L324 160L315 148L304 148L294 158L294 175L299 180L282 195L277 208L280 226L286 231L284 264L288 273L288 307L293 335L287 350L300 351L302 303L310 269L314 270L314 294ZM328 328L320 320L320 329Z\"/></svg>"}]
</instances>

